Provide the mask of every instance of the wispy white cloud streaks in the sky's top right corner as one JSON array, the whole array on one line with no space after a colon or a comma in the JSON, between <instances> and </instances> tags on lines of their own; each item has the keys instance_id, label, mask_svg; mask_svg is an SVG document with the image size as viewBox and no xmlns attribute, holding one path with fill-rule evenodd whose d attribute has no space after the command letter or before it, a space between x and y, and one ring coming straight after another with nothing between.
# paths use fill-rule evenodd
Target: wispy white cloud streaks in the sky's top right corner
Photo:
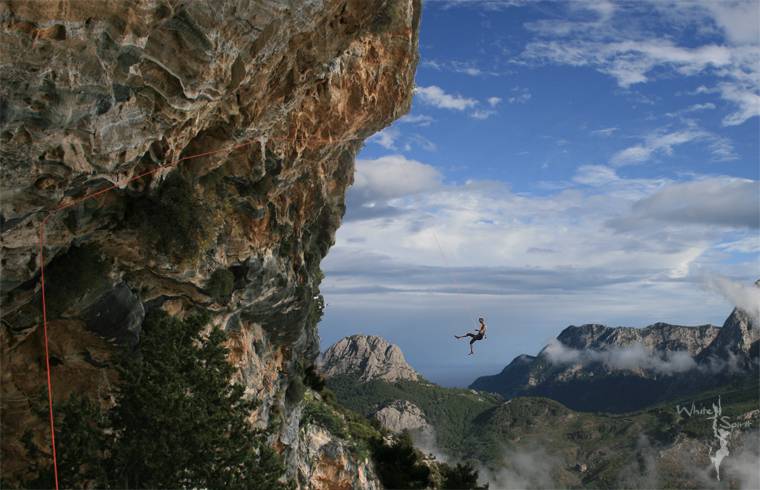
<instances>
[{"instance_id":1,"label":"wispy white cloud streaks in the sky's top right corner","mask_svg":"<svg viewBox=\"0 0 760 490\"><path fill-rule=\"evenodd\" d=\"M568 9L577 9L576 4L572 2ZM527 24L539 39L525 47L521 59L528 63L590 67L612 76L623 88L661 74L710 74L719 82L715 87L703 87L702 93L714 91L735 107L723 119L724 125L742 124L760 115L757 2L659 1L619 6L630 10L625 25L605 16L591 21L543 20ZM655 21L647 17L652 13L658 17ZM654 30L659 22L676 28L686 23L707 32L716 25L728 42L680 46Z\"/></svg>"}]
</instances>

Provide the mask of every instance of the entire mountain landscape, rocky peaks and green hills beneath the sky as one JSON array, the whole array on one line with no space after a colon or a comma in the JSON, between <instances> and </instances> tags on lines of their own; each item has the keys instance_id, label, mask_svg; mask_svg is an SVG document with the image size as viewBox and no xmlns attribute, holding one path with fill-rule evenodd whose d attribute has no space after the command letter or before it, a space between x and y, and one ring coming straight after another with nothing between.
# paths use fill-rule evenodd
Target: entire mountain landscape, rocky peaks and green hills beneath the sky
<instances>
[{"instance_id":1,"label":"entire mountain landscape, rocky peaks and green hills beneath the sky","mask_svg":"<svg viewBox=\"0 0 760 490\"><path fill-rule=\"evenodd\" d=\"M342 405L438 458L471 460L491 488L749 489L760 488L757 334L740 310L723 328L568 327L471 389L430 383L374 336L341 339L320 365ZM703 416L716 403L734 424L721 481Z\"/></svg>"}]
</instances>

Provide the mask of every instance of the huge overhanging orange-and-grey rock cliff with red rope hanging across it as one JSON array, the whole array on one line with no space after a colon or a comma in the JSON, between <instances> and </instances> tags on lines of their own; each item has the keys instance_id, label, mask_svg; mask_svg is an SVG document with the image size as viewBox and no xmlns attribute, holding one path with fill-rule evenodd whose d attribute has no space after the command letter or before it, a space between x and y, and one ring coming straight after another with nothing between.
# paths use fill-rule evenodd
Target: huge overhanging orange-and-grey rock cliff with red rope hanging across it
<instances>
[{"instance_id":1,"label":"huge overhanging orange-and-grey rock cliff with red rope hanging across it","mask_svg":"<svg viewBox=\"0 0 760 490\"><path fill-rule=\"evenodd\" d=\"M211 310L262 401L252 420L297 471L300 410L284 395L318 353L319 263L354 156L408 110L420 5L294 5L0 7L6 475L24 469L25 430L49 437L43 220L54 402L106 403L114 342L136 344L146 311Z\"/></svg>"}]
</instances>

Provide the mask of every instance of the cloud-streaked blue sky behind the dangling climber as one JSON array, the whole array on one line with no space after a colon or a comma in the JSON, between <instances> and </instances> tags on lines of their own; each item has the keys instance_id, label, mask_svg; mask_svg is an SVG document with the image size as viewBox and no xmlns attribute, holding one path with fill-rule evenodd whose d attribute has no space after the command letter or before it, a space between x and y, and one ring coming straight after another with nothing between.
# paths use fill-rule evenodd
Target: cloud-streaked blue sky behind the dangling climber
<instances>
[{"instance_id":1,"label":"cloud-streaked blue sky behind the dangling climber","mask_svg":"<svg viewBox=\"0 0 760 490\"><path fill-rule=\"evenodd\" d=\"M466 385L570 324L758 304L758 8L426 2L412 110L359 155L323 263L323 348L381 335Z\"/></svg>"}]
</instances>

